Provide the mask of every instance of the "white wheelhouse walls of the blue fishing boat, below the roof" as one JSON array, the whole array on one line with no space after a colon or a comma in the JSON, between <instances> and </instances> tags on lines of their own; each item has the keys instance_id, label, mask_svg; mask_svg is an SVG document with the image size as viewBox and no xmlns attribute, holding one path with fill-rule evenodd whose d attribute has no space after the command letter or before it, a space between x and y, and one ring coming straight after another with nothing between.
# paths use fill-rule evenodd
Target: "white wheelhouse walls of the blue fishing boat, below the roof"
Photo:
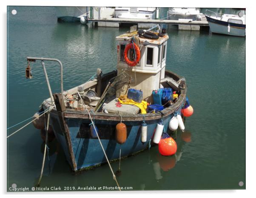
<instances>
[{"instance_id":1,"label":"white wheelhouse walls of the blue fishing boat, below the roof","mask_svg":"<svg viewBox=\"0 0 256 198\"><path fill-rule=\"evenodd\" d=\"M120 40L118 42L119 50L117 54L117 74L120 74L125 70L127 74L130 74L130 70L132 69L131 71L132 82L130 83L130 88L142 90L143 99L147 102L153 102L152 91L160 88L160 79L165 78L165 60L166 60L167 42L163 43L163 45L166 45L164 59L161 58L163 45L160 45L161 56L160 56L159 63L158 63L159 45L155 45L155 44L150 44L147 46L142 45L141 59L139 61L139 64L134 67L128 66L126 62L120 61L120 50L121 50L120 45L121 44L127 45L128 43L130 43L130 41ZM147 48L153 48L152 65L146 64ZM162 60L162 64L161 64L161 60ZM124 79L123 81L128 81L128 76L127 76L127 79ZM128 83L125 83L119 88L117 88L117 97L120 95L124 95L126 93L127 86L128 86Z\"/></svg>"}]
</instances>

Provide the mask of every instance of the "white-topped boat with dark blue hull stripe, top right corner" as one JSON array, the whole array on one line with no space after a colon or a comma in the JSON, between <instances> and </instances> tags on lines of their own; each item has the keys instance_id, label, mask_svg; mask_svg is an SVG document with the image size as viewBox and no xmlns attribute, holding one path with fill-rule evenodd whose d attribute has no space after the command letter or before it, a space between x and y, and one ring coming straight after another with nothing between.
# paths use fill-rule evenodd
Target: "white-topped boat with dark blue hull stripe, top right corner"
<instances>
[{"instance_id":1,"label":"white-topped boat with dark blue hull stripe, top right corner","mask_svg":"<svg viewBox=\"0 0 256 198\"><path fill-rule=\"evenodd\" d=\"M242 11L235 14L221 14L206 10L205 17L209 23L210 31L218 34L245 37L245 14Z\"/></svg>"}]
</instances>

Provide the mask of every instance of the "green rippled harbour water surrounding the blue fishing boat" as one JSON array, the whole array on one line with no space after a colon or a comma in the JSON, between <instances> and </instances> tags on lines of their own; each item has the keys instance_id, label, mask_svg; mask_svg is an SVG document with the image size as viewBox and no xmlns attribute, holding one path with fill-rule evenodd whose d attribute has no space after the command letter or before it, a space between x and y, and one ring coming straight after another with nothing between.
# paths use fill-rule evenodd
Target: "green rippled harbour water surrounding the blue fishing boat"
<instances>
[{"instance_id":1,"label":"green rippled harbour water surrounding the blue fishing boat","mask_svg":"<svg viewBox=\"0 0 256 198\"><path fill-rule=\"evenodd\" d=\"M13 9L17 10L16 15L11 14ZM160 16L165 17L166 12L167 8L161 9ZM193 116L185 120L191 141L178 131L174 134L176 156L160 156L156 146L123 159L122 172L117 175L119 185L132 190L245 189L246 39L208 31L179 31L174 26L166 28L166 69L185 77L187 96L194 109ZM86 82L97 68L102 68L103 73L114 70L115 37L128 30L58 23L54 7L9 6L7 127L33 116L49 97L39 61L32 63L33 78L25 78L27 56L60 59L64 90L68 90ZM60 92L59 65L45 64L52 91ZM25 123L7 130L7 135ZM74 175L56 140L48 146L50 160L46 156L42 191L51 191L51 187L72 190L116 186L107 164ZM12 184L29 188L37 184L43 149L40 130L32 124L7 139L7 191ZM114 171L118 170L118 161L111 165ZM244 183L242 187L240 181Z\"/></svg>"}]
</instances>

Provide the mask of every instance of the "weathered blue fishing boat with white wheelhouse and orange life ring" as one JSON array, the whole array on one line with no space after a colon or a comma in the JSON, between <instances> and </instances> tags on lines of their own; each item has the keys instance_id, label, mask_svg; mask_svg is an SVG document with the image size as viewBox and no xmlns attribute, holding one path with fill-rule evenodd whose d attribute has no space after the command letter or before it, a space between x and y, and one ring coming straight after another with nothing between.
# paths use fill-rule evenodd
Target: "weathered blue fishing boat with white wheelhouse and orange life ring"
<instances>
[{"instance_id":1,"label":"weathered blue fishing boat with white wheelhouse and orange life ring","mask_svg":"<svg viewBox=\"0 0 256 198\"><path fill-rule=\"evenodd\" d=\"M27 78L31 78L30 63L42 62L50 98L43 101L38 113L50 109L48 133L54 133L74 172L145 150L154 144L151 139L159 142L162 133L170 128L172 118L182 114L186 82L184 77L165 70L168 41L165 32L165 29L160 33L133 31L117 36L117 69L102 74L98 68L88 82L68 91L63 91L63 66L58 59L27 57ZM60 93L51 92L45 61L60 64ZM160 105L162 109L148 109L149 104L155 103L157 91L165 88L175 91L176 99ZM141 93L143 104L121 100L121 96L130 97L129 91L134 90ZM38 119L34 125L40 128L41 124L43 129L45 122L44 118Z\"/></svg>"}]
</instances>

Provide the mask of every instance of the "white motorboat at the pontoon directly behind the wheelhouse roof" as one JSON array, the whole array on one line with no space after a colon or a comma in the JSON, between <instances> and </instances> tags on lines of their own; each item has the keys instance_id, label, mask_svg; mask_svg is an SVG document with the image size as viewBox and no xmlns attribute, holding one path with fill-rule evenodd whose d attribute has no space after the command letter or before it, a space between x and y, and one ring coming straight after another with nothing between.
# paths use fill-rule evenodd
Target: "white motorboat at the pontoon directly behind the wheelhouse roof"
<instances>
[{"instance_id":1,"label":"white motorboat at the pontoon directly behind the wheelhouse roof","mask_svg":"<svg viewBox=\"0 0 256 198\"><path fill-rule=\"evenodd\" d=\"M156 8L116 7L114 16L126 19L155 19Z\"/></svg>"}]
</instances>

